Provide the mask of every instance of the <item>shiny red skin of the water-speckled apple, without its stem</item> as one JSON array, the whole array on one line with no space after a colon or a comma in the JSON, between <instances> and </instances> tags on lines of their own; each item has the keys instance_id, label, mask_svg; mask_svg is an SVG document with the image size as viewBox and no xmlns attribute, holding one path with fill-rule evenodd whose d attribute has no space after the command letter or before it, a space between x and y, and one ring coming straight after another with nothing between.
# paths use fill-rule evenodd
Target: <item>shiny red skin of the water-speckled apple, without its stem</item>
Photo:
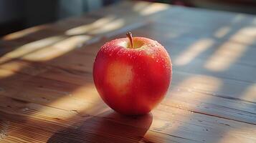
<instances>
[{"instance_id":1,"label":"shiny red skin of the water-speckled apple, without its stem","mask_svg":"<svg viewBox=\"0 0 256 143\"><path fill-rule=\"evenodd\" d=\"M161 44L144 37L105 43L95 58L93 80L103 101L120 114L147 114L171 84L171 58Z\"/></svg>"}]
</instances>

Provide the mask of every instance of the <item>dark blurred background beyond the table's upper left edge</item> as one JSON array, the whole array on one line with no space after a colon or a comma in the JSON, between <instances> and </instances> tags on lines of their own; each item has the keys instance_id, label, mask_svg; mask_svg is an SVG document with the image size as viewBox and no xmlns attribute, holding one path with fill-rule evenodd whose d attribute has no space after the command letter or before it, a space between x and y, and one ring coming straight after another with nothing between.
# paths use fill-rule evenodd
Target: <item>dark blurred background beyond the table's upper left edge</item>
<instances>
[{"instance_id":1,"label":"dark blurred background beyond the table's upper left edge","mask_svg":"<svg viewBox=\"0 0 256 143\"><path fill-rule=\"evenodd\" d=\"M80 16L117 0L0 0L0 36L69 16Z\"/></svg>"}]
</instances>

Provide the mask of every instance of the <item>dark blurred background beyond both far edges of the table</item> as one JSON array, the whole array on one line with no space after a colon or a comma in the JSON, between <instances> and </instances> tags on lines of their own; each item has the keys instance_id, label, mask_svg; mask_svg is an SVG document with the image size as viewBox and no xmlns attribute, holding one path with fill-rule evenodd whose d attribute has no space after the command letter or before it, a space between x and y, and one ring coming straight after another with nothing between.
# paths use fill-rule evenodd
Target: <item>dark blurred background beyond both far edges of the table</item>
<instances>
[{"instance_id":1,"label":"dark blurred background beyond both far edges of the table","mask_svg":"<svg viewBox=\"0 0 256 143\"><path fill-rule=\"evenodd\" d=\"M121 0L0 0L0 36L45 24ZM256 0L145 0L206 9L256 14Z\"/></svg>"}]
</instances>

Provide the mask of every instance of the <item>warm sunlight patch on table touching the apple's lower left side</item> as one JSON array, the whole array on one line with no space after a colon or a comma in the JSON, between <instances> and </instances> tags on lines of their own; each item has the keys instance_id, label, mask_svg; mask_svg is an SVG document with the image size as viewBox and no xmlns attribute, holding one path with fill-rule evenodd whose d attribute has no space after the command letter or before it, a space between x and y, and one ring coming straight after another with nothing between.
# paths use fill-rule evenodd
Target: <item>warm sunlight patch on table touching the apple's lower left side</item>
<instances>
[{"instance_id":1,"label":"warm sunlight patch on table touching the apple's lower left side","mask_svg":"<svg viewBox=\"0 0 256 143\"><path fill-rule=\"evenodd\" d=\"M40 108L30 117L39 117L40 114L47 113L52 114L54 117L60 117L60 113L54 112L53 109L63 109L67 112L62 114L64 119L70 119L78 114L98 114L104 112L108 107L100 100L100 96L95 89L94 84L86 84L83 87L75 89L70 94L66 94L63 97L57 97L47 106Z\"/></svg>"}]
</instances>

